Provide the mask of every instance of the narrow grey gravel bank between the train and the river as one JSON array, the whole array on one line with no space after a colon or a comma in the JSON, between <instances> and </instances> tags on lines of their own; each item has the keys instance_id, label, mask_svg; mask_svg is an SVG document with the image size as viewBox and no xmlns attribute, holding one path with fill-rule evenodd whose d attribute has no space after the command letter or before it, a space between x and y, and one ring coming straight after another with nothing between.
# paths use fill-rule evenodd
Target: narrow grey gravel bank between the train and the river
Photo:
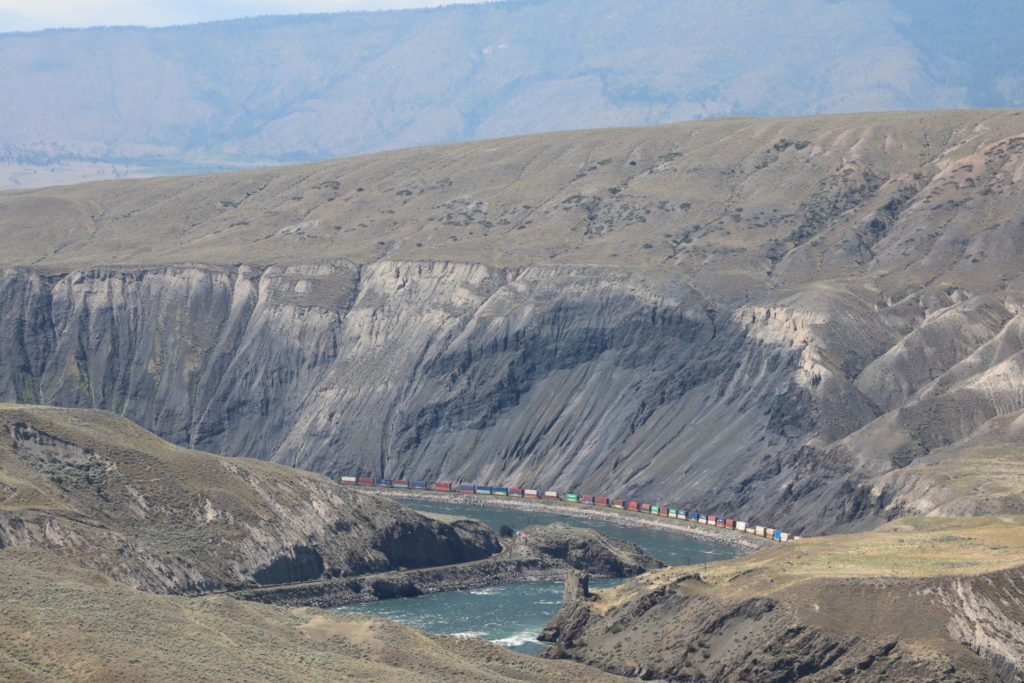
<instances>
[{"instance_id":1,"label":"narrow grey gravel bank between the train and the river","mask_svg":"<svg viewBox=\"0 0 1024 683\"><path fill-rule=\"evenodd\" d=\"M365 490L369 490L369 487ZM740 533L731 529L718 526L707 526L683 522L668 518L655 517L640 512L630 510L617 510L614 508L599 508L594 505L582 505L580 503L565 503L564 501L544 501L538 499L505 498L494 496L476 496L469 494L454 494L447 492L433 492L424 489L402 489L402 488L377 488L372 493L379 496L386 496L400 502L404 500L433 501L441 503L455 503L458 505L479 505L481 507L505 508L517 510L534 510L537 512L552 512L566 517L580 517L584 519L603 519L621 526L632 526L635 528L653 528L670 533L680 533L698 538L702 541L720 543L733 548L744 550L757 550L774 545L774 542L767 539L758 539L746 533Z\"/></svg>"}]
</instances>

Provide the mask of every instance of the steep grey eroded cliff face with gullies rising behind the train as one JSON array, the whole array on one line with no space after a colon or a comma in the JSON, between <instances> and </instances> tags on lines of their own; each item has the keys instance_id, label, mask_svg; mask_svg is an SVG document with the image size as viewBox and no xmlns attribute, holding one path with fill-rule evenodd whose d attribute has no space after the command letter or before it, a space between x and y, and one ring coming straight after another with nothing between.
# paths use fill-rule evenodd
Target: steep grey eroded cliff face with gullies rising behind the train
<instances>
[{"instance_id":1,"label":"steep grey eroded cliff face with gullies rising behind the train","mask_svg":"<svg viewBox=\"0 0 1024 683\"><path fill-rule=\"evenodd\" d=\"M799 530L931 512L945 501L893 472L1024 409L1009 297L720 311L613 271L390 261L8 268L0 296L8 399L331 476L643 496Z\"/></svg>"}]
</instances>

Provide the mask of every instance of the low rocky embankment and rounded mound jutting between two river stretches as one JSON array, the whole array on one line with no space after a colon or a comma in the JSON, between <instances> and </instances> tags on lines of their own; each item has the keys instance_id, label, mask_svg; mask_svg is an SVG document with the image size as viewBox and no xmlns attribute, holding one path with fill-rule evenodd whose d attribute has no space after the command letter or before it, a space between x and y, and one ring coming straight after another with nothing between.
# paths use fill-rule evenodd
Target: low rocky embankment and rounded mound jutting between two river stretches
<instances>
[{"instance_id":1,"label":"low rocky embankment and rounded mound jutting between two river stretches","mask_svg":"<svg viewBox=\"0 0 1024 683\"><path fill-rule=\"evenodd\" d=\"M472 562L267 586L230 595L279 605L332 607L529 581L562 581L570 570L617 579L664 566L634 544L556 523L527 526L503 539L500 553Z\"/></svg>"}]
</instances>

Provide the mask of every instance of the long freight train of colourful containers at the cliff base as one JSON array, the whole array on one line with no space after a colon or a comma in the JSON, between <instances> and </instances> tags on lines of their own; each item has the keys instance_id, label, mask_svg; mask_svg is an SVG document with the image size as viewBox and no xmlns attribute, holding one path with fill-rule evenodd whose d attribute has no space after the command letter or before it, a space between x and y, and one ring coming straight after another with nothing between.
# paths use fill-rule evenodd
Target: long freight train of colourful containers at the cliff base
<instances>
[{"instance_id":1,"label":"long freight train of colourful containers at the cliff base","mask_svg":"<svg viewBox=\"0 0 1024 683\"><path fill-rule=\"evenodd\" d=\"M732 529L740 533L786 543L798 541L799 536L793 536L770 526L752 524L739 521L731 517L719 517L682 507L672 507L668 505L652 505L650 503L640 503L638 501L625 501L620 499L606 498L604 496L583 496L580 494L566 494L557 490L543 490L540 488L516 488L512 486L481 486L473 483L455 483L438 481L428 484L426 481L415 481L407 479L382 479L376 477L354 477L343 476L339 479L343 484L353 486L379 486L384 488L420 488L424 490L435 490L451 494L472 494L474 496L505 496L510 498L532 498L546 501L562 501L577 505L593 505L595 507L611 508L614 510L626 510L639 512L641 514L655 515L668 519L679 519L694 524L707 524L708 526L718 526Z\"/></svg>"}]
</instances>

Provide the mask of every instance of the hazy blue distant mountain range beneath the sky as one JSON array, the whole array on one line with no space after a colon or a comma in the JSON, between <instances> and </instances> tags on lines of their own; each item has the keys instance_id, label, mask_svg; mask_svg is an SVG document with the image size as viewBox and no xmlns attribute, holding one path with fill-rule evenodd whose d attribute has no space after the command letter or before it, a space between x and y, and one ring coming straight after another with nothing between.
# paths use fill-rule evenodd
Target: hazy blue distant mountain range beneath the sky
<instances>
[{"instance_id":1,"label":"hazy blue distant mountain range beneath the sky","mask_svg":"<svg viewBox=\"0 0 1024 683\"><path fill-rule=\"evenodd\" d=\"M513 0L0 36L0 187L723 115L1024 105L1024 3Z\"/></svg>"}]
</instances>

